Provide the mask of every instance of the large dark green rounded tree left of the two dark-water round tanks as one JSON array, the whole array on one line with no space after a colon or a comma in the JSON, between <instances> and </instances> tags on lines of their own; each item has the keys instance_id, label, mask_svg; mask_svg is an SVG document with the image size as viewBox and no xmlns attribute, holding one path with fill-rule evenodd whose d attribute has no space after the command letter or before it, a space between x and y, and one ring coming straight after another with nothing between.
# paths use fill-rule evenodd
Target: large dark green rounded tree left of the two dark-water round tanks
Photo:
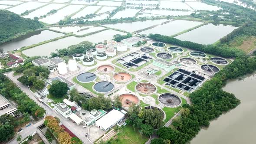
<instances>
[{"instance_id":1,"label":"large dark green rounded tree left of the two dark-water round tanks","mask_svg":"<svg viewBox=\"0 0 256 144\"><path fill-rule=\"evenodd\" d=\"M67 94L69 88L65 82L56 81L49 88L49 94L55 96L56 98L61 98Z\"/></svg>"}]
</instances>

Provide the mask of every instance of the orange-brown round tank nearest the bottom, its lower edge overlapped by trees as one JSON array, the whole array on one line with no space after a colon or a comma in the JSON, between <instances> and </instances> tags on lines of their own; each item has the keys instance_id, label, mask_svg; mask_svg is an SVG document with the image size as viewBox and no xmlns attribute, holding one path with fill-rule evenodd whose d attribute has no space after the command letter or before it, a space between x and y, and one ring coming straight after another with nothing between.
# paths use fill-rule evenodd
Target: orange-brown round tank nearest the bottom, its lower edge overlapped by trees
<instances>
[{"instance_id":1,"label":"orange-brown round tank nearest the bottom, its lower edge overlapped by trees","mask_svg":"<svg viewBox=\"0 0 256 144\"><path fill-rule=\"evenodd\" d=\"M132 94L123 94L119 96L119 99L122 103L123 107L130 107L131 104L137 105L139 102L139 99L137 96L132 95Z\"/></svg>"}]
</instances>

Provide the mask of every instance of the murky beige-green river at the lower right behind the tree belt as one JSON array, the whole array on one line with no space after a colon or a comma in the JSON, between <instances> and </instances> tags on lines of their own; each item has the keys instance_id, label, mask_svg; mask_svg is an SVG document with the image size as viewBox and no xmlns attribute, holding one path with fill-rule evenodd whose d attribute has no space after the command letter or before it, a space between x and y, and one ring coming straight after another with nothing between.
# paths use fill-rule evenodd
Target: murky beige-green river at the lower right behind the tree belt
<instances>
[{"instance_id":1,"label":"murky beige-green river at the lower right behind the tree belt","mask_svg":"<svg viewBox=\"0 0 256 144\"><path fill-rule=\"evenodd\" d=\"M191 144L256 144L256 74L243 80L229 80L224 91L233 93L241 104L201 129Z\"/></svg>"}]
</instances>

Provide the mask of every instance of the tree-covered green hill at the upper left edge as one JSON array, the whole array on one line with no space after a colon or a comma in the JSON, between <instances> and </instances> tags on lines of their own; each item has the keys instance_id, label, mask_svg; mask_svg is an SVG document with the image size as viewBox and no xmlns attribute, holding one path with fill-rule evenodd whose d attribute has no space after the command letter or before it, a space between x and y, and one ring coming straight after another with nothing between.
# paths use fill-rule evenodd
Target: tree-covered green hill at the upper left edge
<instances>
[{"instance_id":1,"label":"tree-covered green hill at the upper left edge","mask_svg":"<svg viewBox=\"0 0 256 144\"><path fill-rule=\"evenodd\" d=\"M38 20L25 19L8 10L0 10L0 43L19 33L43 27Z\"/></svg>"}]
</instances>

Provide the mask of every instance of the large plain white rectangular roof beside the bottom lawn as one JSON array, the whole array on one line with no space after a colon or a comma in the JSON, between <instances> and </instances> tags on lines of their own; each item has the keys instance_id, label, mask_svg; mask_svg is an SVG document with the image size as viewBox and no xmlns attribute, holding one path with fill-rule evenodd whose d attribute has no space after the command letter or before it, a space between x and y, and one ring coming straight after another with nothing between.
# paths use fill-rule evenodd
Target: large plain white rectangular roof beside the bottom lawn
<instances>
[{"instance_id":1,"label":"large plain white rectangular roof beside the bottom lawn","mask_svg":"<svg viewBox=\"0 0 256 144\"><path fill-rule=\"evenodd\" d=\"M124 117L125 114L123 114L121 111L113 109L112 111L108 112L108 114L96 121L95 124L98 128L108 131Z\"/></svg>"}]
</instances>

